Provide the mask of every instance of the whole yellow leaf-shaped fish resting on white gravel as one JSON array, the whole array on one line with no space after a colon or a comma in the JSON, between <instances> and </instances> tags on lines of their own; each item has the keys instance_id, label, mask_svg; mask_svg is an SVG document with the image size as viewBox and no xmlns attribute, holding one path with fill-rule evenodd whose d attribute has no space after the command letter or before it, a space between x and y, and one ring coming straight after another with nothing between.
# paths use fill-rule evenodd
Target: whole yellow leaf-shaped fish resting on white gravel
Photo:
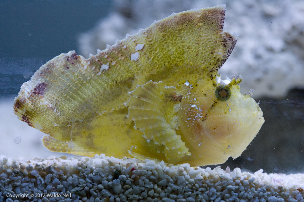
<instances>
[{"instance_id":1,"label":"whole yellow leaf-shaped fish resting on white gravel","mask_svg":"<svg viewBox=\"0 0 304 202\"><path fill-rule=\"evenodd\" d=\"M50 151L192 166L239 157L264 118L241 77L218 74L237 42L224 15L173 13L88 59L61 54L21 86L15 113Z\"/></svg>"}]
</instances>

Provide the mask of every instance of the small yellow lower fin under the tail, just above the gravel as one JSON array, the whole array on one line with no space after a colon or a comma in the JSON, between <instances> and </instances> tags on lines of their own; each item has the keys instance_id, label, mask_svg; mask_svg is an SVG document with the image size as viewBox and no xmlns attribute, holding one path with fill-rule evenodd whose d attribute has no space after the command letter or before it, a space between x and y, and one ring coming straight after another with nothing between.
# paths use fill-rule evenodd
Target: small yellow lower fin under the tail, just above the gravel
<instances>
[{"instance_id":1,"label":"small yellow lower fin under the tail, just above the gravel","mask_svg":"<svg viewBox=\"0 0 304 202\"><path fill-rule=\"evenodd\" d=\"M73 141L60 141L51 136L44 136L42 141L43 145L50 151L76 154L80 156L94 156L96 154L95 151L80 147L77 144L74 144Z\"/></svg>"}]
</instances>

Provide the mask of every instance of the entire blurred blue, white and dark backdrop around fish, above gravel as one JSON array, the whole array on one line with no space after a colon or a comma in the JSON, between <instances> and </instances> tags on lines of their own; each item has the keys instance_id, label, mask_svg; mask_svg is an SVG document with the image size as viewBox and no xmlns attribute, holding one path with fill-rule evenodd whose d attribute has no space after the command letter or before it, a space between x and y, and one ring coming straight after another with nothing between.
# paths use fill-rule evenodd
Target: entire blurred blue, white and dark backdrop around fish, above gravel
<instances>
[{"instance_id":1,"label":"entire blurred blue, white and dark backdrop around fish, above gravel","mask_svg":"<svg viewBox=\"0 0 304 202\"><path fill-rule=\"evenodd\" d=\"M61 156L41 144L43 133L19 121L13 99L23 82L60 53L86 58L153 20L226 3L224 29L239 33L222 78L242 75L255 90L265 123L247 150L221 166L243 171L304 172L304 2L262 0L0 1L0 155ZM216 167L216 165L211 166Z\"/></svg>"}]
</instances>

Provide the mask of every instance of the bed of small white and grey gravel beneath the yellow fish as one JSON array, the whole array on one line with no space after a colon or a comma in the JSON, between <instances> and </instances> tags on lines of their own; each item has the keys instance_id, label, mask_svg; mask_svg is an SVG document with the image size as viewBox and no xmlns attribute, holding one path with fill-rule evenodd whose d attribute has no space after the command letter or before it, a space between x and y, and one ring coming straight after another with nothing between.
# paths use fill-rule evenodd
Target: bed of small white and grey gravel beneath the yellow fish
<instances>
[{"instance_id":1,"label":"bed of small white and grey gravel beneath the yellow fish","mask_svg":"<svg viewBox=\"0 0 304 202\"><path fill-rule=\"evenodd\" d=\"M304 201L303 189L304 174L212 170L104 154L32 160L0 156L0 201L7 202Z\"/></svg>"}]
</instances>

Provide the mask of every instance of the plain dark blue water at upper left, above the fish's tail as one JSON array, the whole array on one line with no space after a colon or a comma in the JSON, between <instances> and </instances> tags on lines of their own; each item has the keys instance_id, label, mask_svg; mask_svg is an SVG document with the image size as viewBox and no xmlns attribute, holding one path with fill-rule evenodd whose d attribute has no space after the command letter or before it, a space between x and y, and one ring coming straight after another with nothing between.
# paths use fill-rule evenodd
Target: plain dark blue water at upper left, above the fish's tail
<instances>
[{"instance_id":1,"label":"plain dark blue water at upper left, above the fish's tail","mask_svg":"<svg viewBox=\"0 0 304 202\"><path fill-rule=\"evenodd\" d=\"M0 1L0 99L16 96L48 60L78 51L77 37L112 8L111 1Z\"/></svg>"}]
</instances>

